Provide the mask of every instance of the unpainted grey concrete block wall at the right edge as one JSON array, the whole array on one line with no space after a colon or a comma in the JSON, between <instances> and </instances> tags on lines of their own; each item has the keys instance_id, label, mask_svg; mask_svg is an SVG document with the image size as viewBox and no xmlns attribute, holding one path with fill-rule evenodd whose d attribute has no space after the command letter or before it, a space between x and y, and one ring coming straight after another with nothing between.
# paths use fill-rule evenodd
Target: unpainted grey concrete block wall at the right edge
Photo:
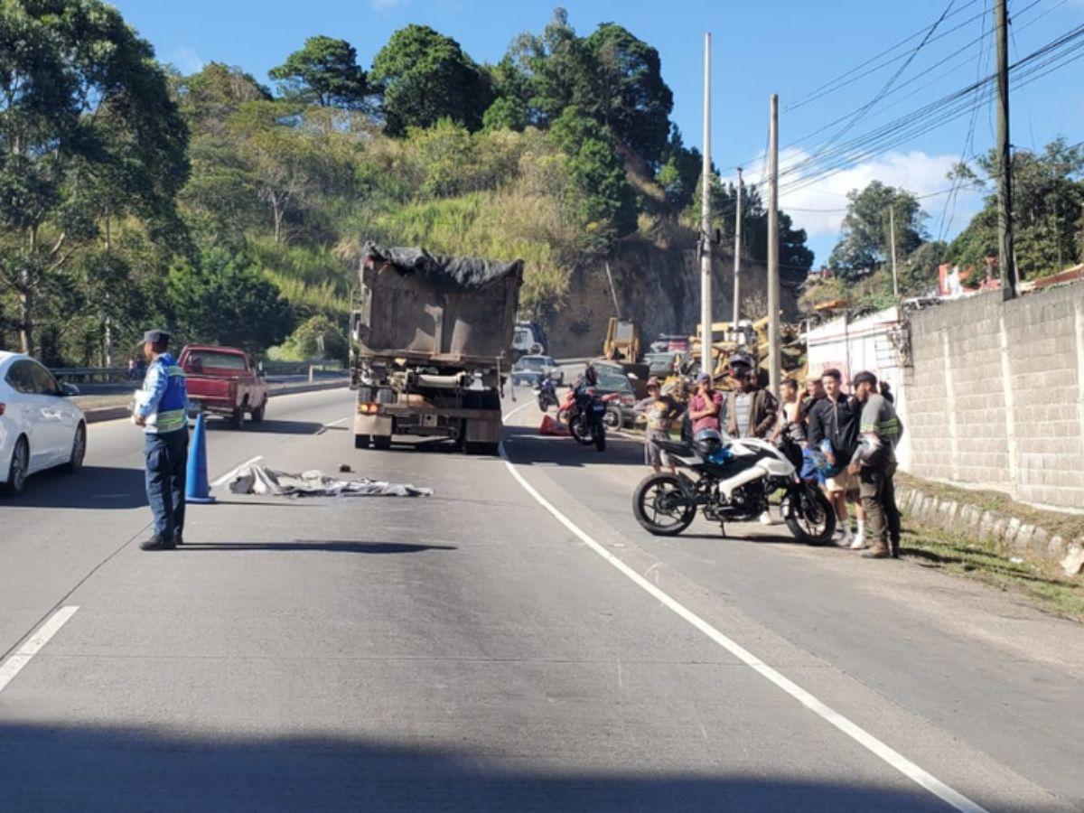
<instances>
[{"instance_id":1,"label":"unpainted grey concrete block wall at the right edge","mask_svg":"<svg viewBox=\"0 0 1084 813\"><path fill-rule=\"evenodd\" d=\"M1084 283L911 317L908 470L1084 508Z\"/></svg>"}]
</instances>

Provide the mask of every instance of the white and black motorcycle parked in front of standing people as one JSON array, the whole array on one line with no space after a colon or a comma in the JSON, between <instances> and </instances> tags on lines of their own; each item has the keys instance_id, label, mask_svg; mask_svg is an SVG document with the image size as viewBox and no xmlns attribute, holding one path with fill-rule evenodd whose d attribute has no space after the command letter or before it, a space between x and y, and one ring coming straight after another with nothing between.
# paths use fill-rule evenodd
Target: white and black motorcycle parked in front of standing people
<instances>
[{"instance_id":1,"label":"white and black motorcycle parked in front of standing people","mask_svg":"<svg viewBox=\"0 0 1084 813\"><path fill-rule=\"evenodd\" d=\"M736 440L701 429L692 443L654 442L680 470L650 475L633 493L636 521L651 533L681 533L697 508L725 533L725 522L756 519L782 490L779 511L795 538L811 545L831 540L836 514L817 485L798 476L801 449L790 438L777 448L766 440Z\"/></svg>"}]
</instances>

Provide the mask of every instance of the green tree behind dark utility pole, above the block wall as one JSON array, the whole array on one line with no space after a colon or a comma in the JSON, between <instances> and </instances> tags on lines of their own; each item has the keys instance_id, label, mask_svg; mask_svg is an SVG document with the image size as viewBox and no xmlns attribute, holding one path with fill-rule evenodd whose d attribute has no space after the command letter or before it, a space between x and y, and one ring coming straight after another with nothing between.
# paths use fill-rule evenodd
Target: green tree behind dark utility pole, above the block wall
<instances>
[{"instance_id":1,"label":"green tree behind dark utility pole, above the block wall","mask_svg":"<svg viewBox=\"0 0 1084 813\"><path fill-rule=\"evenodd\" d=\"M993 177L996 153L979 160L979 169ZM973 170L956 169L966 181L986 189ZM1042 153L1019 150L1012 155L1014 246L1021 279L1056 273L1084 260L1084 145L1070 146L1063 138L1046 145ZM950 262L983 268L988 257L996 258L997 195L990 194L983 209L953 241Z\"/></svg>"}]
</instances>

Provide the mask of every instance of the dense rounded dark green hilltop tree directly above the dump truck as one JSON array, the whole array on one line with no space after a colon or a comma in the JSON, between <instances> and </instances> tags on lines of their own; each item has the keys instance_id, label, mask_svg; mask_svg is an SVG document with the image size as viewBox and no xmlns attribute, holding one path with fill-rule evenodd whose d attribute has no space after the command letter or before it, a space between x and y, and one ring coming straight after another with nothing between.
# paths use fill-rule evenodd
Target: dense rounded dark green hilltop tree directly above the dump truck
<instances>
[{"instance_id":1,"label":"dense rounded dark green hilltop tree directly above the dump truck","mask_svg":"<svg viewBox=\"0 0 1084 813\"><path fill-rule=\"evenodd\" d=\"M460 43L423 25L391 35L373 60L370 80L383 98L389 136L431 127L442 118L479 130L493 102L488 76Z\"/></svg>"}]
</instances>

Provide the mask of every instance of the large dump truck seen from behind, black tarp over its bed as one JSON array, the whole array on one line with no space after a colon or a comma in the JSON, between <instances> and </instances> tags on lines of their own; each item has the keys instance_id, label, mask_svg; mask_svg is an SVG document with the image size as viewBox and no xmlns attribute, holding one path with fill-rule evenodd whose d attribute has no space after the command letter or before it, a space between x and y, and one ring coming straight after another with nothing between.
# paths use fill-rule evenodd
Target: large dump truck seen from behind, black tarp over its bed
<instances>
[{"instance_id":1,"label":"large dump truck seen from behind, black tarp over its bed","mask_svg":"<svg viewBox=\"0 0 1084 813\"><path fill-rule=\"evenodd\" d=\"M498 452L522 275L520 260L365 245L351 315L356 448L413 436Z\"/></svg>"}]
</instances>

